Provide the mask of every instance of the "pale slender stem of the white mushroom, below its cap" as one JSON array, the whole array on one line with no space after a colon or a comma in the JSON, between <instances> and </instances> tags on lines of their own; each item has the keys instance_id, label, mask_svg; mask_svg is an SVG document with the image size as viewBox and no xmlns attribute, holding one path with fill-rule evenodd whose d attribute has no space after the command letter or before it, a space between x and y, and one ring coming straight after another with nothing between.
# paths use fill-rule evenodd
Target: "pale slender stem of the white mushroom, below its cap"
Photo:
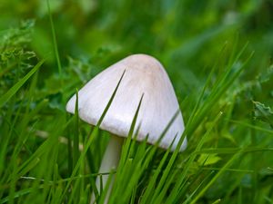
<instances>
[{"instance_id":1,"label":"pale slender stem of the white mushroom, below its cap","mask_svg":"<svg viewBox=\"0 0 273 204\"><path fill-rule=\"evenodd\" d=\"M106 147L106 152L104 154L104 157L101 161L100 168L98 170L99 173L106 173L110 172L113 169L116 169L119 158L120 158L120 152L122 149L122 144L123 144L124 139L121 137L117 137L116 135L111 135L110 141ZM100 176L96 177L96 189L98 190L98 193L101 194L100 189L106 187L106 182L109 178L109 174L102 175L102 187L101 187L101 181L100 181ZM110 181L110 186L107 189L106 192L106 199L105 199L105 204L108 203L109 196L112 191L113 183L114 183L115 177L112 177L112 180ZM96 200L95 194L92 193L91 196L91 204L94 203Z\"/></svg>"}]
</instances>

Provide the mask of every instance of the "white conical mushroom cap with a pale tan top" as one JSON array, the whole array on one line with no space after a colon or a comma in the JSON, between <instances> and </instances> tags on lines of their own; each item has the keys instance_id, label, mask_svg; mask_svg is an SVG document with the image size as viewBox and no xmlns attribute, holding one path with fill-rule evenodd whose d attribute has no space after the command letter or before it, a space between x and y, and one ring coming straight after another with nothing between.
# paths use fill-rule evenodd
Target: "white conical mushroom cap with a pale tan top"
<instances>
[{"instance_id":1,"label":"white conical mushroom cap with a pale tan top","mask_svg":"<svg viewBox=\"0 0 273 204\"><path fill-rule=\"evenodd\" d=\"M137 141L145 140L148 134L147 141L156 143L167 123L179 110L179 106L165 69L157 59L147 54L130 55L86 83L78 92L79 117L96 125L125 70L116 96L100 128L117 136L126 137L137 105L144 93L136 120L136 127L140 124ZM67 102L66 111L74 113L75 104L76 95ZM184 122L179 112L159 146L167 149L177 137L172 145L174 151L183 131ZM186 146L187 139L183 141L180 151Z\"/></svg>"}]
</instances>

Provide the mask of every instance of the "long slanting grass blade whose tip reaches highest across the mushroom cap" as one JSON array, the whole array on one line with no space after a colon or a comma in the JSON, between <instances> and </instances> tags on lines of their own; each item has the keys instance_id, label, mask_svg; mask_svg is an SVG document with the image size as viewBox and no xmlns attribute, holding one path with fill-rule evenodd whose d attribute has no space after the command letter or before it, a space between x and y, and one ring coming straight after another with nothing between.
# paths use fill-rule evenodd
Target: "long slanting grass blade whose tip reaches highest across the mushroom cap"
<instances>
[{"instance_id":1,"label":"long slanting grass blade whose tip reaches highest across the mushroom cap","mask_svg":"<svg viewBox=\"0 0 273 204\"><path fill-rule=\"evenodd\" d=\"M122 79L123 79L123 76L124 74L126 73L126 70L122 73L118 83L116 84L116 88L114 90L114 92L112 93L111 97L110 97L110 100L109 102L107 102L107 105L106 105L106 108L104 110L104 112L102 113L100 119L97 121L97 124L96 124L96 127L93 129L93 131L91 132L90 136L88 137L88 140L86 142L86 145L84 146L84 149L79 157L79 160L77 160L76 162L76 166L74 168L74 170L72 171L72 174L71 174L71 177L75 177L76 176L76 172L80 166L80 164L83 162L83 160L85 160L85 156L86 156L86 151L88 150L88 148L90 147L91 143L94 141L94 138L95 138L95 135L97 134L97 131L98 131L98 128L101 124L101 122L103 121L105 115L106 115L106 112L108 111L108 109L110 108L110 105L111 103L113 102L114 100L114 97L116 95L116 91L118 89L118 86L119 84L121 83ZM69 180L67 183L66 183L66 188L64 189L64 192L63 192L63 195L62 195L62 199L63 200L65 198L65 195L66 195L66 192L67 190L69 189L71 185L71 180Z\"/></svg>"}]
</instances>

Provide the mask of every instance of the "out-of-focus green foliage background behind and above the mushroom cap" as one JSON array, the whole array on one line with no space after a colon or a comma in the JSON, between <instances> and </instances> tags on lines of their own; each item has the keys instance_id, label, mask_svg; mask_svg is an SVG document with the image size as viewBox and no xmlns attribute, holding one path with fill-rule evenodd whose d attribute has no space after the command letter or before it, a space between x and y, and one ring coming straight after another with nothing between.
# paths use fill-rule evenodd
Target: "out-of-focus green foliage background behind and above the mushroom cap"
<instances>
[{"instance_id":1,"label":"out-of-focus green foliage background behind and above the mushroom cap","mask_svg":"<svg viewBox=\"0 0 273 204\"><path fill-rule=\"evenodd\" d=\"M86 82L131 53L147 53L166 66L176 92L186 98L204 84L218 58L227 60L220 52L224 46L235 49L237 37L238 47L249 42L247 54L255 51L244 74L247 80L266 72L271 64L271 0L55 0L50 6L64 72L69 66L78 68L70 83ZM22 46L37 58L46 58L43 78L56 73L46 1L1 0L0 11L3 35L22 21L33 21L25 25L35 24Z\"/></svg>"}]
</instances>

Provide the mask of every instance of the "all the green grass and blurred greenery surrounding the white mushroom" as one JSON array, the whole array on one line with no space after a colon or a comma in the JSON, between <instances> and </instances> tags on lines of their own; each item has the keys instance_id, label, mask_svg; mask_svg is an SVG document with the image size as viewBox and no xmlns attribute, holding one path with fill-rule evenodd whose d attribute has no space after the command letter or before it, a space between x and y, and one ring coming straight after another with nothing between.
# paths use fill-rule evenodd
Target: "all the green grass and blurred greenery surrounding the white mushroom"
<instances>
[{"instance_id":1,"label":"all the green grass and blurred greenery surrounding the white mushroom","mask_svg":"<svg viewBox=\"0 0 273 204\"><path fill-rule=\"evenodd\" d=\"M132 122L109 203L272 203L272 3L91 2L0 5L0 203L90 202L109 133L66 102L130 53L167 68L188 146Z\"/></svg>"}]
</instances>

